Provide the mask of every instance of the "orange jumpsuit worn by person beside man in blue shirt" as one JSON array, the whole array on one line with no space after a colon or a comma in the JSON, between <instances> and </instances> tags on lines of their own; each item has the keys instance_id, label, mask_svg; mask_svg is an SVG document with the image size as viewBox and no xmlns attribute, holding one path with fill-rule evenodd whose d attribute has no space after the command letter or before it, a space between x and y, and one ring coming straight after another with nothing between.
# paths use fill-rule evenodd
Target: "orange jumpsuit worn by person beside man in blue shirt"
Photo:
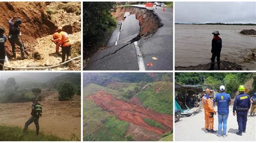
<instances>
[{"instance_id":1,"label":"orange jumpsuit worn by person beside man in blue shirt","mask_svg":"<svg viewBox=\"0 0 256 143\"><path fill-rule=\"evenodd\" d=\"M213 115L216 113L213 109L213 101L208 95L205 95L203 96L202 102L205 110L205 129L209 129L210 126L211 130L213 129Z\"/></svg>"}]
</instances>

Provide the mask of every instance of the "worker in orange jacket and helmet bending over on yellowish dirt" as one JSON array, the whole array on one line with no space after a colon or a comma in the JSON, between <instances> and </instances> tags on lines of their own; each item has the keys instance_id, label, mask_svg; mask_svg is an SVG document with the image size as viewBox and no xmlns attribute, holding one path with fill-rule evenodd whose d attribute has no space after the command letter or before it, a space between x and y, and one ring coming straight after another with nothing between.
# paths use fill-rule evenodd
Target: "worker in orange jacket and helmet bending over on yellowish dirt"
<instances>
[{"instance_id":1,"label":"worker in orange jacket and helmet bending over on yellowish dirt","mask_svg":"<svg viewBox=\"0 0 256 143\"><path fill-rule=\"evenodd\" d=\"M52 42L56 42L55 49L57 54L59 54L59 46L62 47L62 62L65 62L65 56L67 57L67 60L69 60L72 44L69 39L69 34L62 31L62 27L57 28L56 32L53 34Z\"/></svg>"}]
</instances>

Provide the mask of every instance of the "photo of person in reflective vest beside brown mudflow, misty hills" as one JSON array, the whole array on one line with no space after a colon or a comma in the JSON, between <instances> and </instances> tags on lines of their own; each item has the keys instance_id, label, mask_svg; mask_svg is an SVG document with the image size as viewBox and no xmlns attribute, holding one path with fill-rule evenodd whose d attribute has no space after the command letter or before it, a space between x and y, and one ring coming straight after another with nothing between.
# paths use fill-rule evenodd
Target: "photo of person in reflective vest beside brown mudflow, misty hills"
<instances>
[{"instance_id":1,"label":"photo of person in reflective vest beside brown mudflow, misty hills","mask_svg":"<svg viewBox=\"0 0 256 143\"><path fill-rule=\"evenodd\" d=\"M80 73L0 73L0 141L80 141Z\"/></svg>"}]
</instances>

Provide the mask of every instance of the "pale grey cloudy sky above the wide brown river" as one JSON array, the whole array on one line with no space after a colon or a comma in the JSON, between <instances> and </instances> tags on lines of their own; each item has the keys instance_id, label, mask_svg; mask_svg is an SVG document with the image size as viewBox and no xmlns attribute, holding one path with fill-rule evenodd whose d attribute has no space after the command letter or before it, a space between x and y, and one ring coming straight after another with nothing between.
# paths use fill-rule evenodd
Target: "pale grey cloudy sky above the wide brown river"
<instances>
[{"instance_id":1,"label":"pale grey cloudy sky above the wide brown river","mask_svg":"<svg viewBox=\"0 0 256 143\"><path fill-rule=\"evenodd\" d=\"M176 2L176 23L254 23L256 2Z\"/></svg>"}]
</instances>

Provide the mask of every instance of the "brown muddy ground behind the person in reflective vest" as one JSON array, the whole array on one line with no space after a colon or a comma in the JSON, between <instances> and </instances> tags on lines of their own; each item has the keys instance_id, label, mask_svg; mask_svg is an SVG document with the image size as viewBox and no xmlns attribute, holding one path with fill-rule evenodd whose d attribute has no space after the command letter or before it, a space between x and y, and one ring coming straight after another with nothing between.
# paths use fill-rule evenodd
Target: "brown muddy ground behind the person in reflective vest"
<instances>
[{"instance_id":1,"label":"brown muddy ground behind the person in reflective vest","mask_svg":"<svg viewBox=\"0 0 256 143\"><path fill-rule=\"evenodd\" d=\"M43 116L39 119L40 131L67 140L75 134L80 140L80 96L75 96L72 101L58 101L57 92L45 91L42 94L49 96L39 102L43 106ZM0 103L0 124L23 128L30 118L31 105L31 102ZM29 128L36 130L35 124Z\"/></svg>"}]
</instances>

